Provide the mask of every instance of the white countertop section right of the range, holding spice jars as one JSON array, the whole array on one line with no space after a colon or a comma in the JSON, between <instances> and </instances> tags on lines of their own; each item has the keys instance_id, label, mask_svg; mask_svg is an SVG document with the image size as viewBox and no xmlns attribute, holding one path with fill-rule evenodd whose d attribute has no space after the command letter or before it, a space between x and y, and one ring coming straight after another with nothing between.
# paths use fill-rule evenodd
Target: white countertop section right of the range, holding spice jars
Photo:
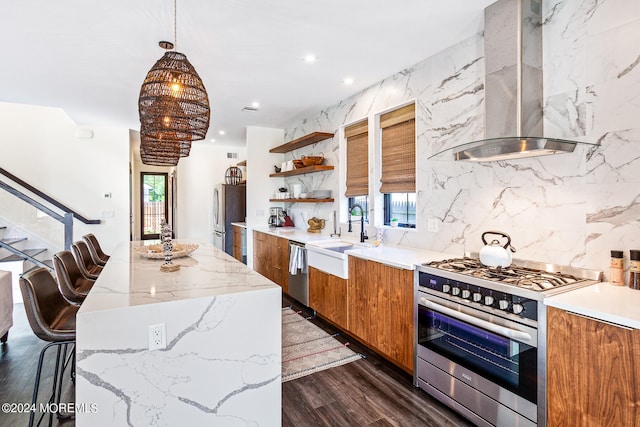
<instances>
[{"instance_id":1,"label":"white countertop section right of the range, holding spice jars","mask_svg":"<svg viewBox=\"0 0 640 427\"><path fill-rule=\"evenodd\" d=\"M640 291L601 282L549 298L545 305L640 329Z\"/></svg>"}]
</instances>

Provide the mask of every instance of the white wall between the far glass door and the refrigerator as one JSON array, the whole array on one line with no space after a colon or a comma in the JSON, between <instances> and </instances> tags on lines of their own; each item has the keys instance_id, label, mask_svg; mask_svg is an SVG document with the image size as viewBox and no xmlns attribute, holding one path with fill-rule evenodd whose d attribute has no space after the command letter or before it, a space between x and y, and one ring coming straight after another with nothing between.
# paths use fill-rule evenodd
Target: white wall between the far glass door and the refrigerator
<instances>
[{"instance_id":1,"label":"white wall between the far glass door and the refrigerator","mask_svg":"<svg viewBox=\"0 0 640 427\"><path fill-rule=\"evenodd\" d=\"M238 157L229 159L227 153ZM213 188L246 153L245 147L203 141L191 145L189 156L178 162L178 238L213 243Z\"/></svg>"}]
</instances>

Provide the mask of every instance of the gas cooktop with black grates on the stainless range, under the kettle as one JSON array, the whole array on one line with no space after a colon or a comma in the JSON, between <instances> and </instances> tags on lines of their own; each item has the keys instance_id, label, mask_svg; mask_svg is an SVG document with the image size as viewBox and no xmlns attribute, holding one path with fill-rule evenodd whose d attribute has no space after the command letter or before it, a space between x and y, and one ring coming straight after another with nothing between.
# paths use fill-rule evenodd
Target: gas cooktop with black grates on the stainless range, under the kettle
<instances>
[{"instance_id":1,"label":"gas cooktop with black grates on the stainless range, under the kettle","mask_svg":"<svg viewBox=\"0 0 640 427\"><path fill-rule=\"evenodd\" d=\"M479 259L471 257L453 258L422 264L419 270L452 272L457 279L469 284L495 282L506 287L517 287L527 293L547 292L563 286L587 285L602 280L602 272L558 266L533 261L514 260L509 267L487 267ZM461 275L464 277L457 277ZM500 286L501 288L503 286Z\"/></svg>"}]
</instances>

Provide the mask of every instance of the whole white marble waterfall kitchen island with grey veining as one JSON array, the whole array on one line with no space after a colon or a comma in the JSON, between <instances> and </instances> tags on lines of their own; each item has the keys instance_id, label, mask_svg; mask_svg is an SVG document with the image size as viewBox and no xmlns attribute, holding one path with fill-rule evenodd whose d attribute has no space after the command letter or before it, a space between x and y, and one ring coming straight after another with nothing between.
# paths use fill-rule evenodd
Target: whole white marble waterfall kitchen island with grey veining
<instances>
[{"instance_id":1,"label":"whole white marble waterfall kitchen island with grey veining","mask_svg":"<svg viewBox=\"0 0 640 427\"><path fill-rule=\"evenodd\" d=\"M78 312L76 425L280 425L280 287L211 245L171 273L141 245L111 254Z\"/></svg>"}]
</instances>

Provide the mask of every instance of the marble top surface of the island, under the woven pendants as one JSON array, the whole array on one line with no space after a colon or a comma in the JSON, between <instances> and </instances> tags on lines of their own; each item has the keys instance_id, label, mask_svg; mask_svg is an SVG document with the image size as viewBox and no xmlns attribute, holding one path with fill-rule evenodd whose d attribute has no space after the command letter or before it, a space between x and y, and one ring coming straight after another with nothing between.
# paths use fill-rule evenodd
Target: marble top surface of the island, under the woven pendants
<instances>
[{"instance_id":1,"label":"marble top surface of the island, under the woven pendants","mask_svg":"<svg viewBox=\"0 0 640 427\"><path fill-rule=\"evenodd\" d=\"M278 288L223 251L201 242L189 242L198 243L198 249L173 260L181 266L180 270L162 272L163 260L143 258L135 252L138 246L156 243L158 241L119 245L79 313Z\"/></svg>"}]
</instances>

